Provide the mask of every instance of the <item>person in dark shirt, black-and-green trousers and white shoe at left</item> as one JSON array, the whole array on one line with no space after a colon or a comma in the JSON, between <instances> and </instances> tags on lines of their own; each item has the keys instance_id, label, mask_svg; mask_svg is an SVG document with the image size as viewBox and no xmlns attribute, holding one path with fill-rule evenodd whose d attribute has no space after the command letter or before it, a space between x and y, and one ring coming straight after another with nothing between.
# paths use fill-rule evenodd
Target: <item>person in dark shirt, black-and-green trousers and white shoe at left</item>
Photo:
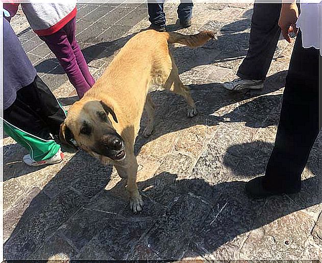
<instances>
[{"instance_id":1,"label":"person in dark shirt, black-and-green trousers and white shoe at left","mask_svg":"<svg viewBox=\"0 0 322 263\"><path fill-rule=\"evenodd\" d=\"M29 151L23 162L40 166L61 162L64 154L54 140L66 117L64 109L37 76L21 43L3 18L3 127Z\"/></svg>"}]
</instances>

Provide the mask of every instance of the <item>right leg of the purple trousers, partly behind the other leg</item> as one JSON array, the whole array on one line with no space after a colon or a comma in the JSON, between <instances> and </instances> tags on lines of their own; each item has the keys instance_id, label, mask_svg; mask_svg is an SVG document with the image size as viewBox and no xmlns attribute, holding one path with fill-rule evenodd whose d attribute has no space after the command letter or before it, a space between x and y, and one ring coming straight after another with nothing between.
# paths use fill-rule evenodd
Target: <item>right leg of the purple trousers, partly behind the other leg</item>
<instances>
[{"instance_id":1,"label":"right leg of the purple trousers, partly behind the other leg","mask_svg":"<svg viewBox=\"0 0 322 263\"><path fill-rule=\"evenodd\" d=\"M89 86L93 86L95 83L95 80L89 72L86 60L85 60L83 53L81 51L81 48L76 40L76 36L75 36L76 35L76 18L71 19L67 23L67 25L65 26L65 31L67 33L68 41L69 41L69 43L72 47L72 50L75 54L77 64L80 67L85 80L87 81Z\"/></svg>"}]
</instances>

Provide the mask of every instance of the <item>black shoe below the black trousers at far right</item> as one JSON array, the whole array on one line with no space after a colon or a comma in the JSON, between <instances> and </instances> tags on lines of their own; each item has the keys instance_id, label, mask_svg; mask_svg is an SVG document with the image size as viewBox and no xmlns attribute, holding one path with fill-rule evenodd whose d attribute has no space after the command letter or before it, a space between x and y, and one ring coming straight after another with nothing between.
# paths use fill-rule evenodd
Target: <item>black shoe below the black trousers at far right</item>
<instances>
[{"instance_id":1,"label":"black shoe below the black trousers at far right","mask_svg":"<svg viewBox=\"0 0 322 263\"><path fill-rule=\"evenodd\" d=\"M263 179L264 176L259 176L247 182L245 186L246 194L250 197L260 199L270 196L281 196L283 194L296 194L300 192L300 189L289 189L284 192L265 189L263 186Z\"/></svg>"}]
</instances>

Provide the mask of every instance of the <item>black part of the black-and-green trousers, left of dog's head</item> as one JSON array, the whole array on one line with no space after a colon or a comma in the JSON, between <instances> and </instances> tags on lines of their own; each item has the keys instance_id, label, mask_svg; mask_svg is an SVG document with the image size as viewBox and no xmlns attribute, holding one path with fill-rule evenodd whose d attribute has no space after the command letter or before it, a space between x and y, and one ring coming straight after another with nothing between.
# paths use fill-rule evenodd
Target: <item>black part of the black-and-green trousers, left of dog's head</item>
<instances>
[{"instance_id":1,"label":"black part of the black-and-green trousers, left of dog's head","mask_svg":"<svg viewBox=\"0 0 322 263\"><path fill-rule=\"evenodd\" d=\"M10 124L42 139L59 135L66 115L47 85L36 76L33 83L17 91L14 103L4 110Z\"/></svg>"}]
</instances>

